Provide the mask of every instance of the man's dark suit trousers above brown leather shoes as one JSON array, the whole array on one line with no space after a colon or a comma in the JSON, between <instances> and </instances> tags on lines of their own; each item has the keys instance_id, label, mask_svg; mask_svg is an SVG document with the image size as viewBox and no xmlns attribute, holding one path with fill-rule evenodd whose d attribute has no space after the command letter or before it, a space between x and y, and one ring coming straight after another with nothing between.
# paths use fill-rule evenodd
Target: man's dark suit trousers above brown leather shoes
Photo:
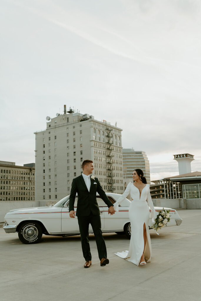
<instances>
[{"instance_id":1,"label":"man's dark suit trousers above brown leather shoes","mask_svg":"<svg viewBox=\"0 0 201 301\"><path fill-rule=\"evenodd\" d=\"M91 224L93 233L96 240L96 246L98 249L99 259L107 258L107 250L105 246L105 240L102 237L101 231L101 219L99 215L93 215L92 213L89 216L78 216L78 224L80 228L82 252L84 259L86 261L91 260L91 252L89 245L89 224Z\"/></svg>"}]
</instances>

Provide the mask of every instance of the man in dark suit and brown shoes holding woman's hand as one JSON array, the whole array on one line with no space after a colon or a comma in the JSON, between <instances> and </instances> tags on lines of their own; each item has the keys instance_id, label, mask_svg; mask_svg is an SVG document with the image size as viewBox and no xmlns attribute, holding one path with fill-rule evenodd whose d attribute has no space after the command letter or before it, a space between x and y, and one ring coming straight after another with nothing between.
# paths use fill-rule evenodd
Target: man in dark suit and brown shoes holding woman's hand
<instances>
[{"instance_id":1,"label":"man in dark suit and brown shoes holding woman's hand","mask_svg":"<svg viewBox=\"0 0 201 301\"><path fill-rule=\"evenodd\" d=\"M96 200L96 192L98 192L102 200L109 207L108 214L114 214L115 210L113 208L113 204L103 191L99 180L94 178L94 176L90 177L90 174L92 174L94 169L93 161L84 160L82 163L82 169L83 173L79 177L74 178L72 182L71 194L69 198L69 215L72 218L75 217L74 202L77 193L78 199L76 216L80 228L82 252L86 260L84 267L89 268L91 265L89 224L91 224L93 233L95 235L100 265L105 266L109 263L109 259L107 259L105 241L102 237L100 210Z\"/></svg>"}]
</instances>

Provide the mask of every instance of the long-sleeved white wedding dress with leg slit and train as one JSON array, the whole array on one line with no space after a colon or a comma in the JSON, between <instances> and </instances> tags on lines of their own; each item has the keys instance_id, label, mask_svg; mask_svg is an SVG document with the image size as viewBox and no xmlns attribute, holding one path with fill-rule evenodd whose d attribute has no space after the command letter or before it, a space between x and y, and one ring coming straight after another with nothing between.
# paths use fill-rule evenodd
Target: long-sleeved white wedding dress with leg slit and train
<instances>
[{"instance_id":1,"label":"long-sleeved white wedding dress with leg slit and train","mask_svg":"<svg viewBox=\"0 0 201 301\"><path fill-rule=\"evenodd\" d=\"M146 246L144 251L144 257L147 262L151 261L151 240L149 235L149 217L156 218L156 212L153 206L151 195L149 192L149 185L143 188L141 195L139 189L130 182L124 193L114 204L115 211L119 211L119 204L128 196L130 193L131 201L129 207L129 219L131 225L131 237L129 250L121 253L115 253L115 255L124 258L136 265L139 265L141 256L144 250L144 238L143 238L143 225L146 225ZM149 206L148 206L149 205ZM149 207L152 210L149 213Z\"/></svg>"}]
</instances>

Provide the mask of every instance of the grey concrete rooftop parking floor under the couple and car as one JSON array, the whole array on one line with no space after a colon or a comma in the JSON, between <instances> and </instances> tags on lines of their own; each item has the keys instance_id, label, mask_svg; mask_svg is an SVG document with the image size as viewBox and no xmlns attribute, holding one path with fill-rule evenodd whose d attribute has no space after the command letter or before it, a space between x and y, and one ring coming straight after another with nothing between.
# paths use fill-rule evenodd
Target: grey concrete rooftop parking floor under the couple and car
<instances>
[{"instance_id":1,"label":"grey concrete rooftop parking floor under the couple and car","mask_svg":"<svg viewBox=\"0 0 201 301\"><path fill-rule=\"evenodd\" d=\"M42 237L25 245L0 228L1 300L161 301L200 299L201 210L179 210L180 226L150 230L152 261L136 266L114 253L128 250L124 235L103 234L109 265L100 267L90 234L92 266L83 268L80 236Z\"/></svg>"}]
</instances>

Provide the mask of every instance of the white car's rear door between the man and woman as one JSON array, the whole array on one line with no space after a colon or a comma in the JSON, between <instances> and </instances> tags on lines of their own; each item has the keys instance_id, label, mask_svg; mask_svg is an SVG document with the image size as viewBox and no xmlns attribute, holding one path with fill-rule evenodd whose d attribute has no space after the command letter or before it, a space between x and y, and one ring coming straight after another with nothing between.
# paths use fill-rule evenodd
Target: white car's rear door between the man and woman
<instances>
[{"instance_id":1,"label":"white car's rear door between the man and woman","mask_svg":"<svg viewBox=\"0 0 201 301\"><path fill-rule=\"evenodd\" d=\"M114 204L115 199L108 196L109 200ZM128 207L119 206L119 211L115 212L115 214L108 214L108 207L104 207L104 219L105 219L105 228L104 231L116 231L116 230L124 230L125 222L128 221Z\"/></svg>"}]
</instances>

